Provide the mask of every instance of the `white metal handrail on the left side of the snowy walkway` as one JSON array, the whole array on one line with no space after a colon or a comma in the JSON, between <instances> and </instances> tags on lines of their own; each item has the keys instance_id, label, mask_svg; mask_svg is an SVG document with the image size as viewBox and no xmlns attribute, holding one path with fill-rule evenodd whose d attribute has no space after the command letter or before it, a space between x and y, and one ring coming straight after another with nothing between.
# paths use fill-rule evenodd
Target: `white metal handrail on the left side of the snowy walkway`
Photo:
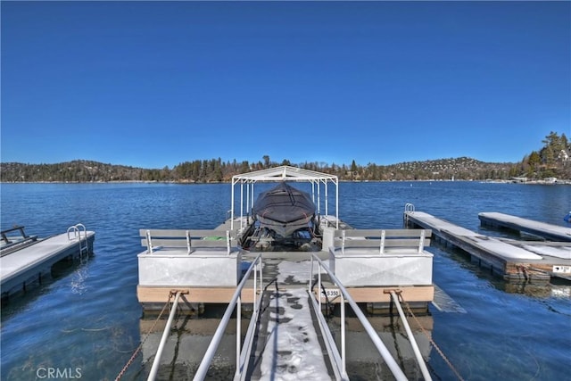
<instances>
[{"instance_id":1,"label":"white metal handrail on the left side of the snowy walkway","mask_svg":"<svg viewBox=\"0 0 571 381\"><path fill-rule=\"evenodd\" d=\"M241 336L242 336L242 332L241 332L241 328L242 328L242 324L241 324L241 318L242 318L242 290L244 289L244 286L246 285L248 278L250 277L250 274L252 273L253 269L259 269L260 271L260 281L258 281L257 278L257 272L254 271L254 281L253 281L253 313L252 313L252 319L250 320L250 326L248 327L248 331L246 333L246 337L244 339L244 347L246 348L246 350L243 352L241 350ZM259 287L259 291L260 291L260 295L259 297L256 299L256 291L258 290L258 283L260 283L260 287ZM228 303L228 307L226 309L226 311L224 312L224 315L222 316L222 319L220 320L219 326L218 328L216 328L216 332L214 332L214 335L212 336L211 339L211 344L208 345L208 348L206 349L206 352L204 353L204 357L203 360L201 361L200 365L198 366L198 369L196 369L196 373L194 374L194 380L203 380L204 377L206 377L206 372L208 372L208 369L210 368L211 365L211 361L214 358L214 355L216 354L216 351L218 350L219 344L222 340L222 336L224 335L224 331L226 330L226 327L228 326L228 322L230 320L230 317L232 316L232 312L234 311L234 309L236 308L236 374L235 374L235 379L240 379L241 377L244 376L244 370L247 369L247 367L245 367L245 361L249 360L250 357L250 351L252 349L252 339L253 339L253 329L256 326L256 322L258 320L258 316L259 316L259 312L261 309L261 296L262 296L262 292L263 292L263 278L262 278L262 266L261 266L261 254L258 254L258 256L252 261L252 264L250 265L250 267L247 269L247 271L244 273L244 277L242 278L242 281L238 284L238 286L236 287L236 292L234 293L234 295L232 296L232 299L230 300L230 302ZM246 355L247 354L247 355Z\"/></svg>"}]
</instances>

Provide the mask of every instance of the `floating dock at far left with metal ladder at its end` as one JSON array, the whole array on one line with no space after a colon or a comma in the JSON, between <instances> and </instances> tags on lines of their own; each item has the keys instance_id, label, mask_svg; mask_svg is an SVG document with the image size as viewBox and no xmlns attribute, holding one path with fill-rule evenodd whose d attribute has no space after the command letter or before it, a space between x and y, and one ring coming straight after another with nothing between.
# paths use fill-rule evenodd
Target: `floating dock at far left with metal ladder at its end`
<instances>
[{"instance_id":1,"label":"floating dock at far left with metal ladder at its end","mask_svg":"<svg viewBox=\"0 0 571 381\"><path fill-rule=\"evenodd\" d=\"M55 263L65 259L87 258L93 253L95 232L87 231L78 224L70 227L67 233L37 239L26 236L21 228L21 238L14 240L3 234L3 241L0 287L4 303L11 296L26 292L50 277Z\"/></svg>"}]
</instances>

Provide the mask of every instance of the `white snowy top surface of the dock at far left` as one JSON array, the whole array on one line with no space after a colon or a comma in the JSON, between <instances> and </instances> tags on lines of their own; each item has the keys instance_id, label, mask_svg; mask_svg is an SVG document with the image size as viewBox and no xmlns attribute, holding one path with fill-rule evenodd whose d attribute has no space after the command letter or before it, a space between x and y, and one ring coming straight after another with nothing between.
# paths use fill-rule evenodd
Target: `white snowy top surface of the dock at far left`
<instances>
[{"instance_id":1,"label":"white snowy top surface of the dock at far left","mask_svg":"<svg viewBox=\"0 0 571 381\"><path fill-rule=\"evenodd\" d=\"M94 235L95 232L87 231L88 239ZM40 266L43 262L50 261L74 245L78 245L78 240L69 240L68 235L64 233L46 238L37 244L32 244L17 252L5 255L0 258L2 284L13 277L17 277L30 269Z\"/></svg>"}]
</instances>

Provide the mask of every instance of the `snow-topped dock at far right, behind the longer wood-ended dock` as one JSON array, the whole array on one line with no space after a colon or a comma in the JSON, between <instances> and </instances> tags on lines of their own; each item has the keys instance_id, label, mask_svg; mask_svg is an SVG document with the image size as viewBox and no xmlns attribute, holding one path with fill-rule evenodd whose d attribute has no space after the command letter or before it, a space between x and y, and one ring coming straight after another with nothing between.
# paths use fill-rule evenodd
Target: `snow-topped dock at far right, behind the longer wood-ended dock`
<instances>
[{"instance_id":1,"label":"snow-topped dock at far right, behind the longer wood-ended dock","mask_svg":"<svg viewBox=\"0 0 571 381\"><path fill-rule=\"evenodd\" d=\"M571 228L534 221L533 219L522 219L496 211L479 213L478 218L484 226L509 228L534 236L542 236L551 241L571 242Z\"/></svg>"}]
</instances>

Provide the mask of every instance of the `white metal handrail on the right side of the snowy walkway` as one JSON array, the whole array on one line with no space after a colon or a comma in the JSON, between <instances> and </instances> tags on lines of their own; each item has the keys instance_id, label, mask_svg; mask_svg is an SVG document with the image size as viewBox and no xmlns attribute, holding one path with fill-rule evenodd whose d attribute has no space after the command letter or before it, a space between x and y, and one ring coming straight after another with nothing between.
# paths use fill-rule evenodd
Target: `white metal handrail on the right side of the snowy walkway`
<instances>
[{"instance_id":1,"label":"white metal handrail on the right side of the snowy walkway","mask_svg":"<svg viewBox=\"0 0 571 381\"><path fill-rule=\"evenodd\" d=\"M346 353L345 353L345 302L348 302L349 305L352 307L353 313L357 316L357 319L359 319L360 323L365 328L365 331L367 332L368 337L371 339L373 344L375 344L375 346L377 347L377 351L380 353L383 360L385 360L386 365L388 366L388 368L393 373L393 376L397 380L406 380L407 377L404 375L401 368L398 366L396 361L393 359L393 356L391 355L389 350L386 348L383 341L377 335L377 331L375 331L375 328L373 328L371 326L367 317L365 317L363 312L360 311L360 308L357 305L357 302L355 302L353 300L351 294L349 294L347 292L347 289L343 286L343 284L339 281L339 279L337 277L335 277L335 274L333 274L333 272L328 268L328 266L325 265L323 263L323 261L321 261L316 254L311 254L310 281L309 281L309 292L310 292L310 294L312 293L311 288L312 288L312 279L314 276L314 274L313 274L313 263L314 263L314 261L317 261L317 263L318 263L318 297L317 297L318 302L315 301L315 298L310 298L310 300L313 303L313 307L315 309L319 309L319 310L317 310L319 313L316 313L316 315L317 315L318 320L319 320L319 327L321 328L321 331L326 338L325 341L326 341L326 345L327 345L327 351L329 352L329 355L330 355L331 359L333 360L333 362L335 362L334 365L337 368L337 369L334 369L335 376L337 376L338 379L343 379L343 380L349 379L349 377L347 376L347 370L346 370L347 368L346 368ZM331 333L329 332L329 329L327 328L327 321L325 320L325 318L323 317L323 314L321 313L321 294L323 292L323 288L321 286L322 269L324 269L326 271L327 275L331 279L331 282L333 282L335 284L335 286L337 286L339 288L339 291L341 292L341 304L340 304L340 308L341 308L341 345L340 345L341 346L341 353L339 353L339 351L337 350L337 347L335 345L335 340L333 339L333 337L331 336Z\"/></svg>"}]
</instances>

